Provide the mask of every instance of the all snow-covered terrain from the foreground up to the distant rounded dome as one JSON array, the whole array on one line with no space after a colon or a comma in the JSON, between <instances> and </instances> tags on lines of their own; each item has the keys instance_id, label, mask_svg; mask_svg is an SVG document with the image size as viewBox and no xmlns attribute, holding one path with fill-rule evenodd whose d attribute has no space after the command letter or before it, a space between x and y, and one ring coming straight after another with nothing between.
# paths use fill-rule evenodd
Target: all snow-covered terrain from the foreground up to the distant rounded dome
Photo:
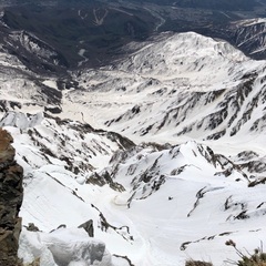
<instances>
[{"instance_id":1,"label":"all snow-covered terrain from the foreground up to the distant rounded dome","mask_svg":"<svg viewBox=\"0 0 266 266\"><path fill-rule=\"evenodd\" d=\"M265 66L224 41L165 33L114 65L73 73L79 88L4 81L0 125L24 168L19 256L222 266L237 259L226 241L244 253L260 246Z\"/></svg>"}]
</instances>

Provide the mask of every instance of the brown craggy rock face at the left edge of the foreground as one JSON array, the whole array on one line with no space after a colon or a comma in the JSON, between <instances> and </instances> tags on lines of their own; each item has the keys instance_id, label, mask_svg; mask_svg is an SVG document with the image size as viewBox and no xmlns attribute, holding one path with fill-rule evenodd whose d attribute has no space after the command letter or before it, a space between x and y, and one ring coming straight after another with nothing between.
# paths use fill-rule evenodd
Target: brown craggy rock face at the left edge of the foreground
<instances>
[{"instance_id":1,"label":"brown craggy rock face at the left edge of the foreground","mask_svg":"<svg viewBox=\"0 0 266 266\"><path fill-rule=\"evenodd\" d=\"M21 265L17 252L21 231L23 170L14 161L13 139L0 129L0 266Z\"/></svg>"}]
</instances>

